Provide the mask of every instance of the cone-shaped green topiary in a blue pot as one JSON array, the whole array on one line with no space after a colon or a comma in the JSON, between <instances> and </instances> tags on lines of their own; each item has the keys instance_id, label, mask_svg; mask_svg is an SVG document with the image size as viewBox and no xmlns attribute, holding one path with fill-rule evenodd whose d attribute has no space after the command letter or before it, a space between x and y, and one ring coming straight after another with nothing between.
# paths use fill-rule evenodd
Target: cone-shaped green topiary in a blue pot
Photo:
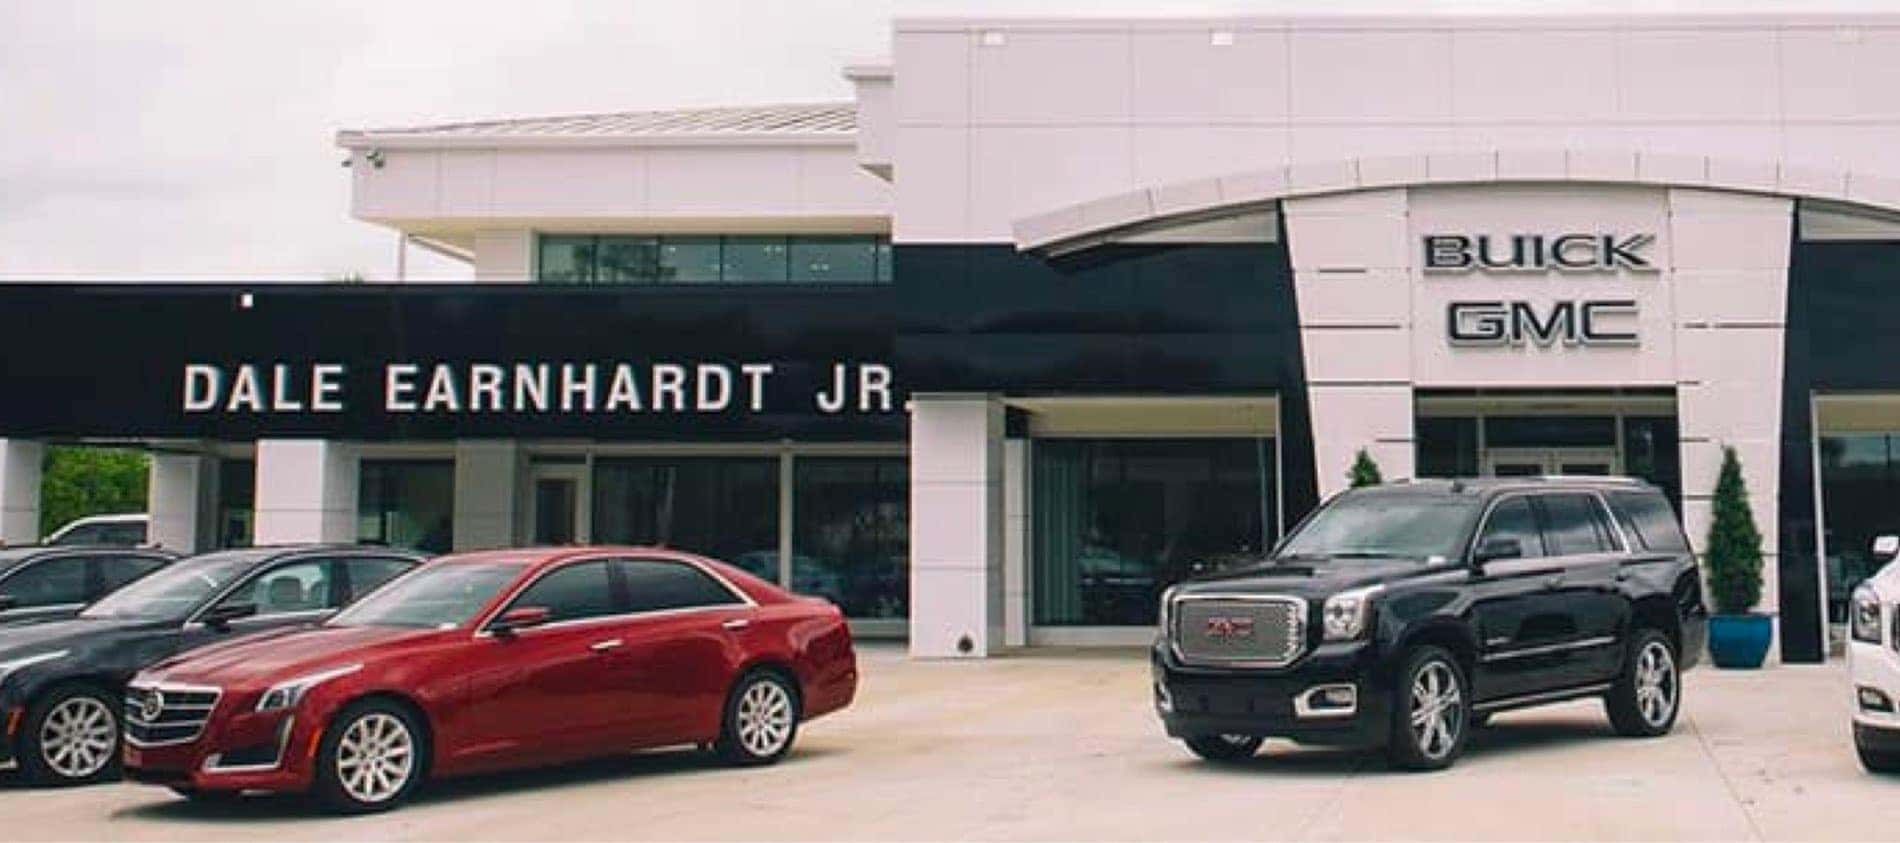
<instances>
[{"instance_id":1,"label":"cone-shaped green topiary in a blue pot","mask_svg":"<svg viewBox=\"0 0 1900 843\"><path fill-rule=\"evenodd\" d=\"M1761 530L1748 509L1748 484L1735 448L1721 448L1714 518L1708 524L1708 657L1716 666L1754 670L1769 653L1775 621L1754 611L1761 600Z\"/></svg>"}]
</instances>

